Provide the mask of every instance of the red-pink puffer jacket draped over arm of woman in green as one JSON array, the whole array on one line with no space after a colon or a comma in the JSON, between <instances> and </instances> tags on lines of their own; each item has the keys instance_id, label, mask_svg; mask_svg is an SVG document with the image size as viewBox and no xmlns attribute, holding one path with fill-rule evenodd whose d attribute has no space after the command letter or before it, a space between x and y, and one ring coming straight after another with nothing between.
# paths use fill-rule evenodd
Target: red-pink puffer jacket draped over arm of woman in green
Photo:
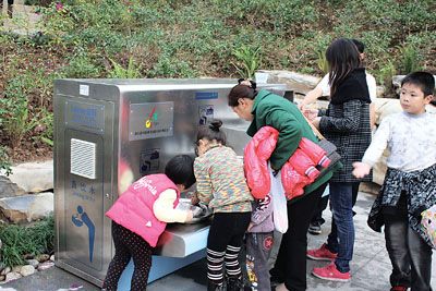
<instances>
[{"instance_id":1,"label":"red-pink puffer jacket draped over arm of woman in green","mask_svg":"<svg viewBox=\"0 0 436 291\"><path fill-rule=\"evenodd\" d=\"M244 148L245 175L252 195L264 198L270 190L268 159L276 148L279 132L271 126L262 128ZM303 187L318 177L316 166L327 167L330 159L314 142L303 137L299 147L281 168L281 183L288 199L303 195Z\"/></svg>"}]
</instances>

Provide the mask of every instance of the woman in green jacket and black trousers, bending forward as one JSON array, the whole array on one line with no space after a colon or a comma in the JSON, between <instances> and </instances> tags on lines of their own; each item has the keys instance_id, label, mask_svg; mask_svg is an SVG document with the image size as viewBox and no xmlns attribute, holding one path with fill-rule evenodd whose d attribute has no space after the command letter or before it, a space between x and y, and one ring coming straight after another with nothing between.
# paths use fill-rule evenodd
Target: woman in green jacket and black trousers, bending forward
<instances>
[{"instance_id":1,"label":"woman in green jacket and black trousers, bending forward","mask_svg":"<svg viewBox=\"0 0 436 291\"><path fill-rule=\"evenodd\" d=\"M276 171L289 160L302 137L318 143L311 126L295 105L267 90L256 90L253 81L240 80L228 95L228 104L242 119L252 121L250 136L263 126L279 131L276 149L269 161ZM304 194L288 202L289 228L283 233L271 280L282 282L276 290L306 290L307 229L332 171L304 189Z\"/></svg>"}]
</instances>

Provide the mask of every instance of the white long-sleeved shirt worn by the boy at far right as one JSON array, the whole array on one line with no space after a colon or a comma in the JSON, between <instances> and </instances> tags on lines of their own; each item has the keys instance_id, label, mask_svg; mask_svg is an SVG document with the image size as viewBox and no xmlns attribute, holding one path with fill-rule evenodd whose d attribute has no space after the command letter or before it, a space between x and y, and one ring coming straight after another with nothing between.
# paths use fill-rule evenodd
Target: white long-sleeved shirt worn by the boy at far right
<instances>
[{"instance_id":1,"label":"white long-sleeved shirt worn by the boy at far right","mask_svg":"<svg viewBox=\"0 0 436 291\"><path fill-rule=\"evenodd\" d=\"M373 166L385 148L390 150L387 166L411 172L436 163L436 116L399 112L385 118L362 158Z\"/></svg>"}]
</instances>

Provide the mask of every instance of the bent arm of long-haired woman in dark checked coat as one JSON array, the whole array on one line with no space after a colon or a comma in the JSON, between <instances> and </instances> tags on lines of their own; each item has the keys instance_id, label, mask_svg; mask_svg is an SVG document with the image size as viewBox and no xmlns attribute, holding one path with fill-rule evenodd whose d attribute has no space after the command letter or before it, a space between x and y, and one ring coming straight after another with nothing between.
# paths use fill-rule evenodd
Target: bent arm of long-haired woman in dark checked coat
<instances>
[{"instance_id":1,"label":"bent arm of long-haired woman in dark checked coat","mask_svg":"<svg viewBox=\"0 0 436 291\"><path fill-rule=\"evenodd\" d=\"M332 118L327 116L320 118L319 120L320 131L356 132L360 128L362 118L361 107L362 107L361 101L358 99L344 102L342 105L343 116L341 118ZM315 124L316 122L313 123Z\"/></svg>"}]
</instances>

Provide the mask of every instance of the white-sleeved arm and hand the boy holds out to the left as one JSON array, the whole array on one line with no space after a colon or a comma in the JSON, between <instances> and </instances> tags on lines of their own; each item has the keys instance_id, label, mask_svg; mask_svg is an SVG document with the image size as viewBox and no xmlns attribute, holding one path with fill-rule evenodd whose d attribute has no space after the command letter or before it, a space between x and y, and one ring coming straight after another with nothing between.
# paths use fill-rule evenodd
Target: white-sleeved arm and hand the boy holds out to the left
<instances>
[{"instance_id":1,"label":"white-sleeved arm and hand the boy holds out to the left","mask_svg":"<svg viewBox=\"0 0 436 291\"><path fill-rule=\"evenodd\" d=\"M380 158L383 151L388 146L390 138L390 122L389 118L384 120L374 134L370 147L363 155L362 161L354 162L354 170L352 174L355 178L363 178L370 174L371 168Z\"/></svg>"}]
</instances>

